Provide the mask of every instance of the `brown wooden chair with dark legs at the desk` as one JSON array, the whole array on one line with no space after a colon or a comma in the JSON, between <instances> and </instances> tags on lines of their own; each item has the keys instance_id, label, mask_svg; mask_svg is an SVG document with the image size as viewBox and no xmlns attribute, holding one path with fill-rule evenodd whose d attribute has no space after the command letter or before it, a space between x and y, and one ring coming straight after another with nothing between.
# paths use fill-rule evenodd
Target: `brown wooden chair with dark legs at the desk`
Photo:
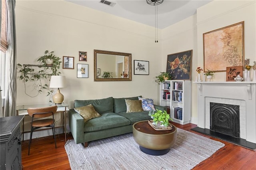
<instances>
[{"instance_id":1,"label":"brown wooden chair with dark legs at the desk","mask_svg":"<svg viewBox=\"0 0 256 170\"><path fill-rule=\"evenodd\" d=\"M57 106L50 106L50 107L42 107L42 108L28 108L28 115L32 117L31 120L31 130L30 130L30 140L28 144L28 155L30 152L30 143L32 141L32 133L34 130L40 127L51 127L52 134L55 141L55 148L56 146L56 138L55 138L55 126L54 126L54 113L57 111ZM49 117L48 119L41 119L44 117ZM52 117L52 118L51 118ZM34 120L34 118L40 118L39 120Z\"/></svg>"}]
</instances>

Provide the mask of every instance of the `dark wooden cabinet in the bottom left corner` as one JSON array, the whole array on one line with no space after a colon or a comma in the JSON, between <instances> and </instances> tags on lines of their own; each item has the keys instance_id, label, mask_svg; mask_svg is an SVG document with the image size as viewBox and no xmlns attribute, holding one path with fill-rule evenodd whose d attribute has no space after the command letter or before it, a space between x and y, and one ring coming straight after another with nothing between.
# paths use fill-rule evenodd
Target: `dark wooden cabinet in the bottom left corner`
<instances>
[{"instance_id":1,"label":"dark wooden cabinet in the bottom left corner","mask_svg":"<svg viewBox=\"0 0 256 170\"><path fill-rule=\"evenodd\" d=\"M0 170L20 170L21 132L20 124L24 116L0 118Z\"/></svg>"}]
</instances>

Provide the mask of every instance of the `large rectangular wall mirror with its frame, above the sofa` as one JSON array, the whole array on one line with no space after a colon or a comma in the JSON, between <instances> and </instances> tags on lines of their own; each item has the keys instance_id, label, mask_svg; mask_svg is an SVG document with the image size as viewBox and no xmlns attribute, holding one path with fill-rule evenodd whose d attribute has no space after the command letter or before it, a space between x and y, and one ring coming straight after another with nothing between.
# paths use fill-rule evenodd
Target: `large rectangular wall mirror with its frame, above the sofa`
<instances>
[{"instance_id":1,"label":"large rectangular wall mirror with its frame, above the sofa","mask_svg":"<svg viewBox=\"0 0 256 170\"><path fill-rule=\"evenodd\" d=\"M94 81L132 81L132 54L94 49Z\"/></svg>"}]
</instances>

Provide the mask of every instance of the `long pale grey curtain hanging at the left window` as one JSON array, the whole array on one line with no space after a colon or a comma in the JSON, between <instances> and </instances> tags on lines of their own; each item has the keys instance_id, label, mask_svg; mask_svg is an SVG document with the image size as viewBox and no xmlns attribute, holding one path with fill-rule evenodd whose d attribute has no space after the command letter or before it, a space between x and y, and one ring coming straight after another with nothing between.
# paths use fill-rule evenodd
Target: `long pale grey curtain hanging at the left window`
<instances>
[{"instance_id":1,"label":"long pale grey curtain hanging at the left window","mask_svg":"<svg viewBox=\"0 0 256 170\"><path fill-rule=\"evenodd\" d=\"M15 0L6 0L7 8L7 42L6 51L6 80L4 100L4 117L16 115L16 29L15 29Z\"/></svg>"}]
</instances>

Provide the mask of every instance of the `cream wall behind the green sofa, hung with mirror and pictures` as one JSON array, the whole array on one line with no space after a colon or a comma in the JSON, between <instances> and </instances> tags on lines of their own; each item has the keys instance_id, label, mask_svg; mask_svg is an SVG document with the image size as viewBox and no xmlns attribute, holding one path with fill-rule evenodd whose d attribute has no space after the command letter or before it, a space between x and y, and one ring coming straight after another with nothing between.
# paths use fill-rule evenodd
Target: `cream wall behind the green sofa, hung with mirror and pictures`
<instances>
[{"instance_id":1,"label":"cream wall behind the green sofa, hung with mirror and pictures","mask_svg":"<svg viewBox=\"0 0 256 170\"><path fill-rule=\"evenodd\" d=\"M74 69L60 69L68 80L61 92L70 107L74 99L110 96L142 95L158 101L154 77L159 72L160 45L154 43L152 27L66 1L17 1L16 32L17 63L34 64L46 49L61 58L75 57ZM132 75L130 82L94 82L94 49L132 53L133 60L150 62L150 75ZM78 61L78 51L87 51L87 62ZM77 63L89 64L89 78L76 78ZM17 105L48 102L44 94L26 96L22 81L17 86Z\"/></svg>"}]
</instances>

